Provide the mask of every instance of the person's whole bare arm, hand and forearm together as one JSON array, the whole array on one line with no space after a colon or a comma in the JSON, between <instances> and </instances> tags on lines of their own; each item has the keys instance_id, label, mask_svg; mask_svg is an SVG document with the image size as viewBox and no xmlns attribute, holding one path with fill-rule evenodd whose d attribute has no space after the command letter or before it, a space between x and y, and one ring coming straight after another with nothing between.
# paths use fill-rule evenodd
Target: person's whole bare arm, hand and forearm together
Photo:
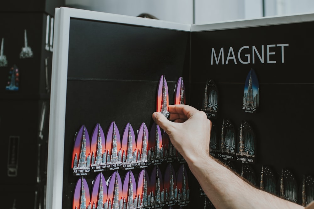
<instances>
[{"instance_id":1,"label":"person's whole bare arm, hand and forearm together","mask_svg":"<svg viewBox=\"0 0 314 209\"><path fill-rule=\"evenodd\" d=\"M168 111L169 120L160 112L154 112L152 118L169 135L215 208L304 208L253 187L209 155L212 123L203 111L188 105L169 105ZM314 203L306 209L314 209Z\"/></svg>"}]
</instances>

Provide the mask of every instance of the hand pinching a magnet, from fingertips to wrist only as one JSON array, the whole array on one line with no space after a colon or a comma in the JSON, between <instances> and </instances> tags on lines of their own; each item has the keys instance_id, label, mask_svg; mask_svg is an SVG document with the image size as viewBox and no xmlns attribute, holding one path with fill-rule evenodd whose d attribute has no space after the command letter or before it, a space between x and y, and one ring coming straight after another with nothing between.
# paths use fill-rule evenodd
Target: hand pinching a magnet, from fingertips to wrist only
<instances>
[{"instance_id":1,"label":"hand pinching a magnet, from fingertips to wrist only","mask_svg":"<svg viewBox=\"0 0 314 209\"><path fill-rule=\"evenodd\" d=\"M169 135L171 143L187 162L209 155L211 121L203 111L188 105L169 105L169 120L160 112L152 117Z\"/></svg>"}]
</instances>

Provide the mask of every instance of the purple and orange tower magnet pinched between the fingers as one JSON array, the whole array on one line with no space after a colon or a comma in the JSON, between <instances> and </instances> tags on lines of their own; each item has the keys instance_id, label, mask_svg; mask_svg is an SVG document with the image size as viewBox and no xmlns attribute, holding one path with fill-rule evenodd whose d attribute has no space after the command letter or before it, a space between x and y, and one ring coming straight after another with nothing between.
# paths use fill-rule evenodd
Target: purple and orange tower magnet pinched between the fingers
<instances>
[{"instance_id":1,"label":"purple and orange tower magnet pinched between the fingers","mask_svg":"<svg viewBox=\"0 0 314 209\"><path fill-rule=\"evenodd\" d=\"M168 112L169 94L168 85L165 76L160 77L157 89L157 112L161 112L166 118L169 118Z\"/></svg>"}]
</instances>

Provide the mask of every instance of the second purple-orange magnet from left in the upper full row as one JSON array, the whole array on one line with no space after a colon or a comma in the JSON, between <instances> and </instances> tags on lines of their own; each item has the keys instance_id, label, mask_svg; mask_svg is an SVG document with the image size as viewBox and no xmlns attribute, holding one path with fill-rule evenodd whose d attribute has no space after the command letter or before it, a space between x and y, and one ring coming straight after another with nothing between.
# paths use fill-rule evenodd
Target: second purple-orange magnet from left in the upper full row
<instances>
[{"instance_id":1,"label":"second purple-orange magnet from left in the upper full row","mask_svg":"<svg viewBox=\"0 0 314 209\"><path fill-rule=\"evenodd\" d=\"M91 172L101 172L106 170L107 150L105 134L99 123L96 124L92 133L90 153Z\"/></svg>"}]
</instances>

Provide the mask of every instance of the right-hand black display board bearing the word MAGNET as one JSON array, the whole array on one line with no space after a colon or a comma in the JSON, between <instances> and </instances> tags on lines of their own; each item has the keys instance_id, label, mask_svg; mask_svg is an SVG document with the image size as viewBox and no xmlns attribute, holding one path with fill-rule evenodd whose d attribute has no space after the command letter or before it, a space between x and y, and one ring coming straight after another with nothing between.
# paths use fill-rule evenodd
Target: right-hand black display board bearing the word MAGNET
<instances>
[{"instance_id":1,"label":"right-hand black display board bearing the word MAGNET","mask_svg":"<svg viewBox=\"0 0 314 209\"><path fill-rule=\"evenodd\" d=\"M236 132L241 121L250 123L256 135L252 168L258 176L257 186L262 165L270 166L277 180L282 169L290 169L298 185L303 175L314 173L313 26L313 22L287 23L191 33L191 105L202 108L206 79L212 79L219 91L218 117L212 119L219 127L219 140L223 119L231 120ZM240 50L243 46L246 48ZM253 54L253 46L264 59L256 51ZM221 48L224 61L221 55L217 62ZM259 81L257 113L242 111L244 85L251 69ZM240 174L241 163L236 165Z\"/></svg>"}]
</instances>

